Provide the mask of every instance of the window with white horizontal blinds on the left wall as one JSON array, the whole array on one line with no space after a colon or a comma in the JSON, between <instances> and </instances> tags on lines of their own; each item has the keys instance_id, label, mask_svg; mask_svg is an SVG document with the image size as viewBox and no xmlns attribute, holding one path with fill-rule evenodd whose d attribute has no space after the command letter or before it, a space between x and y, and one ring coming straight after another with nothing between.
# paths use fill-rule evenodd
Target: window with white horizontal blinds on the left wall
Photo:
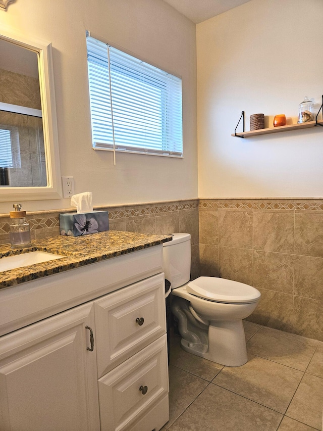
<instances>
[{"instance_id":1,"label":"window with white horizontal blinds on the left wall","mask_svg":"<svg viewBox=\"0 0 323 431\"><path fill-rule=\"evenodd\" d=\"M93 148L182 157L182 81L86 37Z\"/></svg>"}]
</instances>

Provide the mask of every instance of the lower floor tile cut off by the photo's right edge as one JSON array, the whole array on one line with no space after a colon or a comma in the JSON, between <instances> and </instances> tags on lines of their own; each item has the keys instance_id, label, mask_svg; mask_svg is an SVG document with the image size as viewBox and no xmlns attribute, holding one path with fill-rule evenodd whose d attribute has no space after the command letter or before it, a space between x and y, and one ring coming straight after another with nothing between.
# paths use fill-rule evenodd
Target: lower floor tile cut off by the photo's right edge
<instances>
[{"instance_id":1,"label":"lower floor tile cut off by the photo's right edge","mask_svg":"<svg viewBox=\"0 0 323 431\"><path fill-rule=\"evenodd\" d=\"M322 429L323 378L305 373L286 415Z\"/></svg>"}]
</instances>

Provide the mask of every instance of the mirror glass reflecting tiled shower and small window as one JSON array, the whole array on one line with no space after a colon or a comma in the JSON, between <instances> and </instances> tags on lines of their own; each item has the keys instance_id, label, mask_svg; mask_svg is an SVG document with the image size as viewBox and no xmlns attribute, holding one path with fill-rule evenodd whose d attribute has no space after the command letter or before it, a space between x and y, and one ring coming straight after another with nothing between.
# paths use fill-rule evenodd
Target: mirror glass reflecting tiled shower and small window
<instances>
[{"instance_id":1,"label":"mirror glass reflecting tiled shower and small window","mask_svg":"<svg viewBox=\"0 0 323 431\"><path fill-rule=\"evenodd\" d=\"M0 186L46 186L38 55L0 39Z\"/></svg>"}]
</instances>

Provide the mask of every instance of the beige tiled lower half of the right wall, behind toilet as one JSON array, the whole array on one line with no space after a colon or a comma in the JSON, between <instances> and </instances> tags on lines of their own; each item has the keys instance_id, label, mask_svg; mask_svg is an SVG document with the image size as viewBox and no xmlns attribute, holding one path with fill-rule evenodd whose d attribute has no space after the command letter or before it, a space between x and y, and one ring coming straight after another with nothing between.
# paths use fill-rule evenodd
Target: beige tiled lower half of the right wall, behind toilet
<instances>
[{"instance_id":1,"label":"beige tiled lower half of the right wall, behind toilet","mask_svg":"<svg viewBox=\"0 0 323 431\"><path fill-rule=\"evenodd\" d=\"M323 200L200 200L201 275L261 292L251 322L323 341Z\"/></svg>"}]
</instances>

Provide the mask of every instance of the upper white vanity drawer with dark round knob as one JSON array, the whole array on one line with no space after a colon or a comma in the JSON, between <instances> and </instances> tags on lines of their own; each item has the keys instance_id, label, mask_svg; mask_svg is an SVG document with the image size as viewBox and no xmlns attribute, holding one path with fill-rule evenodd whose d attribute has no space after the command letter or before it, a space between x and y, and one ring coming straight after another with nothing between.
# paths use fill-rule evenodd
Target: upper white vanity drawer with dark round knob
<instances>
[{"instance_id":1,"label":"upper white vanity drawer with dark round knob","mask_svg":"<svg viewBox=\"0 0 323 431\"><path fill-rule=\"evenodd\" d=\"M166 333L164 274L94 301L98 377Z\"/></svg>"}]
</instances>

